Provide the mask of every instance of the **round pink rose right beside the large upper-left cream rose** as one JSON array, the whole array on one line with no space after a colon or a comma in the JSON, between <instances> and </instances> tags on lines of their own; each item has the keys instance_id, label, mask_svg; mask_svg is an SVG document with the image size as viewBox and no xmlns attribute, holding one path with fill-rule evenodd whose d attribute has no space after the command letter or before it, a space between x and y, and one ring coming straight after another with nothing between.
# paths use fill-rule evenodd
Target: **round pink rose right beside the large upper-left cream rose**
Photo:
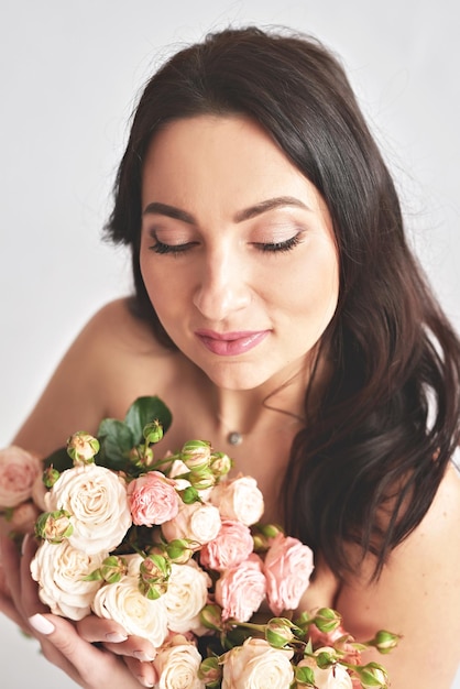
<instances>
[{"instance_id":1,"label":"round pink rose right beside the large upper-left cream rose","mask_svg":"<svg viewBox=\"0 0 460 689\"><path fill-rule=\"evenodd\" d=\"M128 500L134 524L152 526L174 518L180 502L175 485L175 481L160 471L150 471L132 481Z\"/></svg>"}]
</instances>

